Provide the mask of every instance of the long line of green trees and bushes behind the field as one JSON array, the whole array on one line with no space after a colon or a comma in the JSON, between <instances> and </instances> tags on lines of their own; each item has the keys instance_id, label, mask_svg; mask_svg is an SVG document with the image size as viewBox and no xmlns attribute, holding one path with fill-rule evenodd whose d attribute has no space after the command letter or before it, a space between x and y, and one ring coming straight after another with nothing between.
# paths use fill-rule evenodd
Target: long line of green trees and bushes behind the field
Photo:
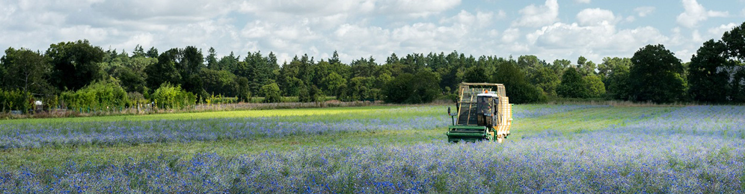
<instances>
[{"instance_id":1,"label":"long line of green trees and bushes behind the field","mask_svg":"<svg viewBox=\"0 0 745 194\"><path fill-rule=\"evenodd\" d=\"M454 99L461 82L504 83L514 103L552 98L603 98L635 102L744 103L745 23L704 42L691 62L682 63L664 45L647 45L631 58L605 57L595 63L546 62L537 56L391 54L343 63L334 54L295 56L279 65L260 51L218 58L214 48L171 48L159 52L136 46L131 53L60 42L42 51L8 48L0 58L0 109L25 110L34 100L48 107L115 109L153 104L179 108L209 102L215 95L279 102L297 96L314 102L385 100L428 103Z\"/></svg>"}]
</instances>

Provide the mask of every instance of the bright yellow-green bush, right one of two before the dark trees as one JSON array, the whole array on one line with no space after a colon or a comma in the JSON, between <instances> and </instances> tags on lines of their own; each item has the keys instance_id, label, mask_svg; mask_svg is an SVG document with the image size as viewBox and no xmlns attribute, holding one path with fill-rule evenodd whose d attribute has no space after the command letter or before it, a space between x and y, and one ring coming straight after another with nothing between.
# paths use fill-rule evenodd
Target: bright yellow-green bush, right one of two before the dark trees
<instances>
[{"instance_id":1,"label":"bright yellow-green bush, right one of two before the dark trees","mask_svg":"<svg viewBox=\"0 0 745 194\"><path fill-rule=\"evenodd\" d=\"M197 102L197 95L183 90L181 85L171 85L171 83L163 83L150 97L153 98L153 103L161 109L183 109Z\"/></svg>"}]
</instances>

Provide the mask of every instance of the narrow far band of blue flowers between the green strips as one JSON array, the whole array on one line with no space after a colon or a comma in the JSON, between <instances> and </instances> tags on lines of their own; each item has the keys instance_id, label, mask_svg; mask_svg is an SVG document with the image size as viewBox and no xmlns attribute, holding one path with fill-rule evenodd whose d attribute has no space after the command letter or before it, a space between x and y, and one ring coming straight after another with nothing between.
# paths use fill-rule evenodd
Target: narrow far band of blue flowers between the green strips
<instances>
[{"instance_id":1,"label":"narrow far band of blue flowers between the green strips","mask_svg":"<svg viewBox=\"0 0 745 194\"><path fill-rule=\"evenodd\" d=\"M537 117L592 106L555 106L516 111L516 117ZM405 107L380 112L418 113L431 107ZM324 117L324 116L317 116ZM332 117L332 116L328 116ZM345 116L346 117L346 116ZM300 120L299 120L300 119ZM22 123L0 125L0 149L45 146L83 146L170 143L225 139L277 138L288 135L323 135L337 132L434 129L448 125L441 116L302 120L302 117L249 117L202 120L152 120L80 123ZM291 120L291 121L288 121Z\"/></svg>"}]
</instances>

